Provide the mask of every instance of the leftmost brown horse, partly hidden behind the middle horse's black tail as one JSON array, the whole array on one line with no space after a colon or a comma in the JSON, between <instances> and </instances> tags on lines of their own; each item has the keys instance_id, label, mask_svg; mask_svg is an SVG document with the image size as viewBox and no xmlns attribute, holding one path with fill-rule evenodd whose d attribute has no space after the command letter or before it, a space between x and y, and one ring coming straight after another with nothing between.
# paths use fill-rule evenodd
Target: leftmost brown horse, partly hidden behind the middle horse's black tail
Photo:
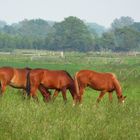
<instances>
[{"instance_id":1,"label":"leftmost brown horse, partly hidden behind the middle horse's black tail","mask_svg":"<svg viewBox=\"0 0 140 140\"><path fill-rule=\"evenodd\" d=\"M6 86L9 85L14 88L19 88L25 90L29 93L28 88L28 76L30 68L17 69L12 67L1 67L0 68L0 95L4 94ZM42 85L38 87L42 96L48 101L50 99L49 91Z\"/></svg>"}]
</instances>

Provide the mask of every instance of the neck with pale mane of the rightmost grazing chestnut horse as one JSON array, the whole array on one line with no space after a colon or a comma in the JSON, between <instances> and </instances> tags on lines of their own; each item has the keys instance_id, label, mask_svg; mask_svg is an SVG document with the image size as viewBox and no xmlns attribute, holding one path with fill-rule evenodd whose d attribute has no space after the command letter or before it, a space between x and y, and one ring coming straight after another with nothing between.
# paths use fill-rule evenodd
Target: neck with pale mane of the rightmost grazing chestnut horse
<instances>
[{"instance_id":1,"label":"neck with pale mane of the rightmost grazing chestnut horse","mask_svg":"<svg viewBox=\"0 0 140 140\"><path fill-rule=\"evenodd\" d=\"M122 88L121 88L121 85L118 81L118 79L116 78L116 76L113 74L113 83L114 83L114 86L115 86L115 90L116 90L116 93L118 96L122 95Z\"/></svg>"}]
</instances>

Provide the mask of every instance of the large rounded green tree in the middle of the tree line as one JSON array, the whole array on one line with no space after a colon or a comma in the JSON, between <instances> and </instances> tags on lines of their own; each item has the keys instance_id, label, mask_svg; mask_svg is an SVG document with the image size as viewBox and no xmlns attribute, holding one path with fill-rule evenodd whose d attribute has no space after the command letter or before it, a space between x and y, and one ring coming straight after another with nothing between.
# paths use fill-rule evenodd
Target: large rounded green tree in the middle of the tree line
<instances>
[{"instance_id":1,"label":"large rounded green tree in the middle of the tree line","mask_svg":"<svg viewBox=\"0 0 140 140\"><path fill-rule=\"evenodd\" d=\"M93 43L92 35L84 22L72 16L55 23L48 37L46 44L57 50L87 51ZM50 39L51 37L53 39Z\"/></svg>"}]
</instances>

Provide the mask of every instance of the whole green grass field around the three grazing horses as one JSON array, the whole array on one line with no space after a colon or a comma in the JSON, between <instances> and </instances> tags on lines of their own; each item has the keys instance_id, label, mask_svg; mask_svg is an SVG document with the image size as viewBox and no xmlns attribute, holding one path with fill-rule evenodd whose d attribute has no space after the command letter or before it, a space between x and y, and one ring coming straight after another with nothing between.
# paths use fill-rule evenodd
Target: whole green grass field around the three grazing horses
<instances>
[{"instance_id":1,"label":"whole green grass field around the three grazing horses","mask_svg":"<svg viewBox=\"0 0 140 140\"><path fill-rule=\"evenodd\" d=\"M140 56L122 54L66 53L60 56L0 55L0 66L64 69L71 75L80 69L113 72L127 96L125 104L113 103L106 94L98 107L98 92L86 89L83 105L24 100L20 91L7 87L0 99L0 140L139 140L140 139Z\"/></svg>"}]
</instances>

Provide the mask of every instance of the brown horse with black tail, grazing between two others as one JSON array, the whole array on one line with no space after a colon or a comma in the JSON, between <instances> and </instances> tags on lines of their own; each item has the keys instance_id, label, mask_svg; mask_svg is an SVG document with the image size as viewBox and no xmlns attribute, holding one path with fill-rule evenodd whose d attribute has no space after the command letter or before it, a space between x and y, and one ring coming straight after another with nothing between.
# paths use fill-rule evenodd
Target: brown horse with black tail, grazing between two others
<instances>
[{"instance_id":1,"label":"brown horse with black tail, grazing between two others","mask_svg":"<svg viewBox=\"0 0 140 140\"><path fill-rule=\"evenodd\" d=\"M46 89L55 89L53 96L56 97L61 91L64 101L66 98L66 90L68 89L73 100L76 97L76 89L74 80L63 70L33 69L30 72L30 96L36 97L36 90L39 85L43 85Z\"/></svg>"}]
</instances>

